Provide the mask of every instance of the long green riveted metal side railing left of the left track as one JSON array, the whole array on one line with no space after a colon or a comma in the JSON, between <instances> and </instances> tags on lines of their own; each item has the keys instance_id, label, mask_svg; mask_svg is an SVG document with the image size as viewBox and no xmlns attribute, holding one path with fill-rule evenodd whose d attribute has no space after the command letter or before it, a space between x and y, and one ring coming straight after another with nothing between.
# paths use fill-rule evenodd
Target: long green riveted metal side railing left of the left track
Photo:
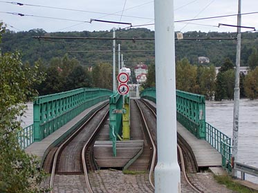
<instances>
[{"instance_id":1,"label":"long green riveted metal side railing left of the left track","mask_svg":"<svg viewBox=\"0 0 258 193\"><path fill-rule=\"evenodd\" d=\"M109 99L110 90L80 88L39 96L33 104L34 140L41 141L91 106Z\"/></svg>"}]
</instances>

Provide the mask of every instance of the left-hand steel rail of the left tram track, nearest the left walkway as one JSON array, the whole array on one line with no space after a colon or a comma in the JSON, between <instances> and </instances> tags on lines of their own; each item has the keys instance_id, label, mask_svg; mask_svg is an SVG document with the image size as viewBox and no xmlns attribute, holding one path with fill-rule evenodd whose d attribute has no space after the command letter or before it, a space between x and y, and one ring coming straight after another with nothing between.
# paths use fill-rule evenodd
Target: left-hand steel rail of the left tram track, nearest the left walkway
<instances>
[{"instance_id":1,"label":"left-hand steel rail of the left tram track, nearest the left walkway","mask_svg":"<svg viewBox=\"0 0 258 193\"><path fill-rule=\"evenodd\" d=\"M85 127L85 125L87 123L89 123L89 121L91 121L91 119L93 119L93 116L95 116L95 114L97 114L100 110L102 110L106 105L104 105L102 108L100 108L99 110L96 110L93 114L91 114L91 116L89 117L89 119L87 119L85 121L85 123L83 125L81 125L77 130L75 130L75 132L73 132L73 134L71 134L71 136L68 137L68 139L66 139L61 145L59 145L59 148L57 149L57 151L55 152L55 156L54 156L54 160L53 160L53 166L52 166L52 170L51 170L51 175L50 175L50 183L49 183L49 187L50 187L50 193L54 192L54 179L55 179L55 169L56 169L56 165L57 165L57 157L59 155L59 152L62 150L62 148L64 147L64 145L66 145L66 143L68 143L68 141L70 141L71 139L73 139L74 136L76 136L81 130L82 128Z\"/></svg>"}]
</instances>

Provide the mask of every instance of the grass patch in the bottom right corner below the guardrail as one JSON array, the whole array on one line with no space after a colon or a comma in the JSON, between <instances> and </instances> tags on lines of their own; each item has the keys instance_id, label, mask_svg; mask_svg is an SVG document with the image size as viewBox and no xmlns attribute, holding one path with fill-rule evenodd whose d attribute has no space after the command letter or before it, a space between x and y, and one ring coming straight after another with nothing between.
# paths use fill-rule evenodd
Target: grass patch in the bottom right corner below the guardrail
<instances>
[{"instance_id":1,"label":"grass patch in the bottom right corner below the guardrail","mask_svg":"<svg viewBox=\"0 0 258 193\"><path fill-rule=\"evenodd\" d=\"M228 187L230 190L234 190L236 192L241 193L258 193L258 191L252 190L240 183L235 182L231 176L214 176L214 179L220 183Z\"/></svg>"}]
</instances>

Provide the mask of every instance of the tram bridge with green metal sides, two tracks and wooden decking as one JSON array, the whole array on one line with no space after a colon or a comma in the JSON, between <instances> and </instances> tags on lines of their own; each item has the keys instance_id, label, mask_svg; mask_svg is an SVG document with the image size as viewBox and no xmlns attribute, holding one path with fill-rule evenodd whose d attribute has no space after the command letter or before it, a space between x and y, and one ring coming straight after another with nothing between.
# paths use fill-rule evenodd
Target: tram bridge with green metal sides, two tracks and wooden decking
<instances>
[{"instance_id":1,"label":"tram bridge with green metal sides, two tracks and wooden decking","mask_svg":"<svg viewBox=\"0 0 258 193\"><path fill-rule=\"evenodd\" d=\"M34 123L18 137L53 192L154 192L156 89L132 93L81 88L35 99ZM205 173L231 170L231 139L205 122L205 97L177 90L176 111L181 192L230 192Z\"/></svg>"}]
</instances>

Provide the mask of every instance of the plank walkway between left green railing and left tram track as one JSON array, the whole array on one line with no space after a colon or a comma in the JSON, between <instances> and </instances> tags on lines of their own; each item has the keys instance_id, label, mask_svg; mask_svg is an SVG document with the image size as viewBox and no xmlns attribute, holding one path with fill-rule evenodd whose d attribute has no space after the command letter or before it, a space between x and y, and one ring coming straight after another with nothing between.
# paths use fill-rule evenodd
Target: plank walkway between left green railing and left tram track
<instances>
[{"instance_id":1,"label":"plank walkway between left green railing and left tram track","mask_svg":"<svg viewBox=\"0 0 258 193\"><path fill-rule=\"evenodd\" d=\"M44 154L48 151L48 149L55 143L57 143L58 139L64 137L64 134L69 133L69 130L84 116L89 114L92 110L97 108L99 105L106 103L107 101L100 102L96 105L93 105L91 108L87 108L79 115L75 116L71 121L63 125L61 128L53 132L52 134L48 135L46 138L42 139L42 141L37 141L29 145L25 152L28 154L35 154L39 157L40 160L44 159Z\"/></svg>"}]
</instances>

